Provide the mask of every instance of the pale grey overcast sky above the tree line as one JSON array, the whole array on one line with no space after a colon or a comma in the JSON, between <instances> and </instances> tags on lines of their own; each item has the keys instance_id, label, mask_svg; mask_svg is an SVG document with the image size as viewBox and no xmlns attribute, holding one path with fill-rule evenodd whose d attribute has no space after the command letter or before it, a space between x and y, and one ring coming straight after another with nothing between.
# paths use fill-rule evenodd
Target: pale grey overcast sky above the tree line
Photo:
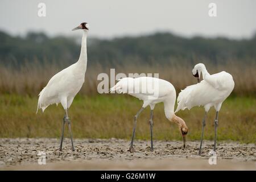
<instances>
[{"instance_id":1,"label":"pale grey overcast sky above the tree line","mask_svg":"<svg viewBox=\"0 0 256 182\"><path fill-rule=\"evenodd\" d=\"M46 3L46 17L38 4ZM210 18L208 5L217 4ZM255 0L1 0L0 30L13 35L44 31L48 35L79 35L71 29L90 24L90 36L113 38L170 31L183 36L250 38L256 32Z\"/></svg>"}]
</instances>

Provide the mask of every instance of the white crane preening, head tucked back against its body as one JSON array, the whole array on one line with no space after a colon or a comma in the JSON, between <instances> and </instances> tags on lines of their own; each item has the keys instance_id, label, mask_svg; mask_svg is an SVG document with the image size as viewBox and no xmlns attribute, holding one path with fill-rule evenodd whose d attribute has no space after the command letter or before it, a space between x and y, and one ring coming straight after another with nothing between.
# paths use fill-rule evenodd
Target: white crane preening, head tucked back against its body
<instances>
[{"instance_id":1,"label":"white crane preening, head tucked back against its body","mask_svg":"<svg viewBox=\"0 0 256 182\"><path fill-rule=\"evenodd\" d=\"M232 75L222 71L210 75L202 63L196 64L192 70L193 76L197 77L197 81L200 80L200 75L203 76L203 81L195 85L187 86L184 90L181 90L177 97L177 111L184 109L191 109L194 106L204 106L205 116L203 119L203 127L201 133L201 142L199 148L199 154L201 154L205 120L210 107L214 106L216 110L216 117L214 120L214 148L216 151L216 139L217 139L217 126L218 126L218 111L221 109L222 102L230 95L234 89L234 80Z\"/></svg>"}]
</instances>

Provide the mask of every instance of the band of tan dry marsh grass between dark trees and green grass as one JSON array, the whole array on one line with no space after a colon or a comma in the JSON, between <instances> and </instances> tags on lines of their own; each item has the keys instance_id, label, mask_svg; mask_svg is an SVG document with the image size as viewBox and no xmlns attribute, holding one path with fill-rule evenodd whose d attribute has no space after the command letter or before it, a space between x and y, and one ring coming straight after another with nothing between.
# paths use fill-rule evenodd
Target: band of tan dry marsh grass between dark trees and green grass
<instances>
[{"instance_id":1,"label":"band of tan dry marsh grass between dark trees and green grass","mask_svg":"<svg viewBox=\"0 0 256 182\"><path fill-rule=\"evenodd\" d=\"M256 64L243 64L230 62L222 65L206 64L210 74L220 71L226 71L233 75L235 88L233 94L238 96L248 96L256 94ZM23 94L35 96L40 90L46 86L49 78L55 73L67 67L67 64L25 64L19 69L0 67L0 93L5 94ZM81 94L97 94L97 80L99 73L107 73L110 75L111 66L102 66L94 64L89 66L86 71L85 84L80 91ZM192 65L187 64L168 64L168 65L117 65L115 74L117 73L159 73L159 77L170 81L176 88L177 92L185 88L187 85L195 84L196 79L192 76Z\"/></svg>"}]
</instances>

